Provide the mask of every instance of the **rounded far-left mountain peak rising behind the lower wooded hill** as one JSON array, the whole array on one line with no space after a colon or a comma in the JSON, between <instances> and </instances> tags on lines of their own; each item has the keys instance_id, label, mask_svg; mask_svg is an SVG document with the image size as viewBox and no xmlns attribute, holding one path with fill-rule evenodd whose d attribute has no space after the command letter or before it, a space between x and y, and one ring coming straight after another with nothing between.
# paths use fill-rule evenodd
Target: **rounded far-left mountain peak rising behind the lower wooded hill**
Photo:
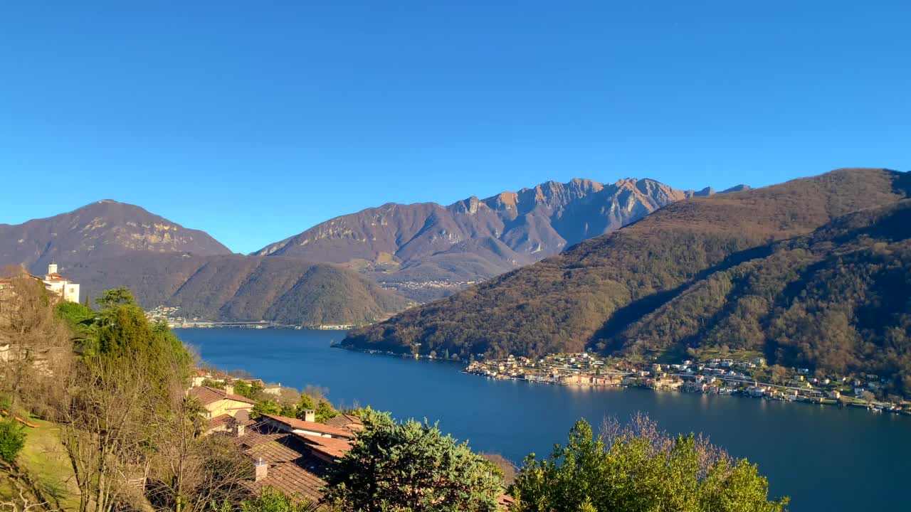
<instances>
[{"instance_id":1,"label":"rounded far-left mountain peak rising behind the lower wooded hill","mask_svg":"<svg viewBox=\"0 0 911 512\"><path fill-rule=\"evenodd\" d=\"M133 251L230 254L204 231L189 230L131 204L100 200L23 224L0 224L0 262L25 263L43 273L56 260L67 266Z\"/></svg>"}]
</instances>

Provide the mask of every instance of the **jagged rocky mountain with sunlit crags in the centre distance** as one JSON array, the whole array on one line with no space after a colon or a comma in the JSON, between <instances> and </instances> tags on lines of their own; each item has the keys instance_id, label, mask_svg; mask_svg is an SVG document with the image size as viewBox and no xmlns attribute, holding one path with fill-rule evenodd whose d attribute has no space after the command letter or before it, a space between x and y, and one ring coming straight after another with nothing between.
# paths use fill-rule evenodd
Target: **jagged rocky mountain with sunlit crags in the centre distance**
<instances>
[{"instance_id":1,"label":"jagged rocky mountain with sunlit crags in the centre distance","mask_svg":"<svg viewBox=\"0 0 911 512\"><path fill-rule=\"evenodd\" d=\"M449 206L384 204L327 220L256 255L342 263L417 300L453 292L711 192L652 179L548 181Z\"/></svg>"}]
</instances>

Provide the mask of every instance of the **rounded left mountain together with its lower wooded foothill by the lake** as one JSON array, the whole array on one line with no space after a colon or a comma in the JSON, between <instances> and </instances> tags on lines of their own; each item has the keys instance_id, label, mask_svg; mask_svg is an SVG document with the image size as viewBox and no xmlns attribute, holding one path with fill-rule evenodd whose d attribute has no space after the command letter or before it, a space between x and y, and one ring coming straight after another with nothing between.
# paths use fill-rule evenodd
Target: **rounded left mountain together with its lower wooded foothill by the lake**
<instances>
[{"instance_id":1,"label":"rounded left mountain together with its lower wooded foothill by the lake","mask_svg":"<svg viewBox=\"0 0 911 512\"><path fill-rule=\"evenodd\" d=\"M354 271L232 254L203 231L113 200L0 225L0 265L41 275L50 261L80 283L83 296L128 286L143 307L178 306L186 318L361 324L409 304Z\"/></svg>"}]
</instances>

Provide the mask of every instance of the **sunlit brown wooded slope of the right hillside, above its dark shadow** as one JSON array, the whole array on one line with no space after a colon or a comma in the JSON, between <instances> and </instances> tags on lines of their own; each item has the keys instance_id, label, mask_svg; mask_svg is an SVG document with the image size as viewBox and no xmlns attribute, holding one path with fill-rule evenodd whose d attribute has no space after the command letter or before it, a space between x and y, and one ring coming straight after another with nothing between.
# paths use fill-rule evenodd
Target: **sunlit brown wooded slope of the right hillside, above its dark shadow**
<instances>
[{"instance_id":1,"label":"sunlit brown wooded slope of the right hillside, above its dark shadow","mask_svg":"<svg viewBox=\"0 0 911 512\"><path fill-rule=\"evenodd\" d=\"M713 271L761 258L773 241L906 197L907 175L840 169L763 189L693 197L609 235L351 333L353 346L537 355L604 339L615 312L648 314ZM629 323L629 322L628 322ZM618 342L619 343L619 342ZM619 343L626 346L626 343Z\"/></svg>"}]
</instances>

